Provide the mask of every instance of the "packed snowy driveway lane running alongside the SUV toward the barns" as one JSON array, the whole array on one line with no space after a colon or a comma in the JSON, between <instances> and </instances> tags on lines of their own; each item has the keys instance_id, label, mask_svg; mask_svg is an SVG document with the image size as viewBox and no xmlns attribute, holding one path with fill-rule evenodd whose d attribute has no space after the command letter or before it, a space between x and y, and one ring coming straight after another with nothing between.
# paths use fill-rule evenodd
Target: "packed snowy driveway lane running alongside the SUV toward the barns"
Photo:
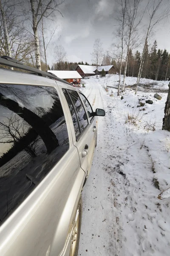
<instances>
[{"instance_id":1,"label":"packed snowy driveway lane running alongside the SUV toward the barns","mask_svg":"<svg viewBox=\"0 0 170 256\"><path fill-rule=\"evenodd\" d=\"M102 96L105 90L100 90L98 84L90 86L93 88L90 98L92 99L93 95L93 100L96 99L94 105L105 109ZM108 118L106 115L106 119ZM107 134L109 120L106 119L99 118L98 146L91 173L82 193L84 211L79 245L81 256L122 256L119 205L113 190L113 174L108 171L112 145L107 144L111 138Z\"/></svg>"}]
</instances>

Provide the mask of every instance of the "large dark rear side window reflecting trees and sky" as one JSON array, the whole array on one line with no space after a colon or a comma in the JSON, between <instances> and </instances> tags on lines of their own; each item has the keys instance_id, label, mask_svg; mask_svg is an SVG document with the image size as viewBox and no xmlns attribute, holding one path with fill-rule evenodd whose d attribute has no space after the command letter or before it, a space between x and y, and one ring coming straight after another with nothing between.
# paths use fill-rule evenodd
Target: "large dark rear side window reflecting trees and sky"
<instances>
[{"instance_id":1,"label":"large dark rear side window reflecting trees and sky","mask_svg":"<svg viewBox=\"0 0 170 256\"><path fill-rule=\"evenodd\" d=\"M55 88L0 84L0 222L68 148Z\"/></svg>"}]
</instances>

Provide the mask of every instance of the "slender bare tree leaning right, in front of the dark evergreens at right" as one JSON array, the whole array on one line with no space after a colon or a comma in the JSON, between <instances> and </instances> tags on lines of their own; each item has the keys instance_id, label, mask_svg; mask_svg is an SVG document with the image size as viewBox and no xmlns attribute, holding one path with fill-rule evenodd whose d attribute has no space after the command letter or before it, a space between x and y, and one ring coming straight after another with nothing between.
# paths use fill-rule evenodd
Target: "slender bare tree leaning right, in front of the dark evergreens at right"
<instances>
[{"instance_id":1,"label":"slender bare tree leaning right, in front of the dark evergreens at right","mask_svg":"<svg viewBox=\"0 0 170 256\"><path fill-rule=\"evenodd\" d=\"M147 3L147 14L149 16L149 23L147 25L147 31L144 39L144 47L142 51L142 57L140 61L140 66L139 66L139 72L138 72L138 77L136 81L136 93L138 90L138 85L139 81L141 79L142 75L142 70L143 70L143 65L144 65L144 55L145 55L145 50L147 47L147 41L150 36L150 33L152 32L154 26L159 24L161 20L166 18L169 15L169 6L170 3L168 0L148 0ZM161 10L161 13L159 11Z\"/></svg>"}]
</instances>

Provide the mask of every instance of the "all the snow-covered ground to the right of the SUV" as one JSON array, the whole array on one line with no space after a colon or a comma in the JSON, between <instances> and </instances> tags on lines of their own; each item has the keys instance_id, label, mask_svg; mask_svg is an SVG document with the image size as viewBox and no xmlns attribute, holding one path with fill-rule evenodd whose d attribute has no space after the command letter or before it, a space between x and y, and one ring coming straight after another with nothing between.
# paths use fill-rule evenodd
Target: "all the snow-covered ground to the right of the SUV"
<instances>
[{"instance_id":1,"label":"all the snow-covered ground to the right of the SUV","mask_svg":"<svg viewBox=\"0 0 170 256\"><path fill-rule=\"evenodd\" d=\"M127 78L126 84L133 80ZM118 76L84 81L83 93L106 116L99 118L98 145L82 193L78 255L169 256L170 198L157 198L170 187L170 133L161 131L167 93L159 90L167 90L168 82L143 79L141 83L151 84L150 92L147 88L135 95L127 88L121 100L116 89L104 89L108 81L117 87ZM153 104L137 107L139 99Z\"/></svg>"}]
</instances>

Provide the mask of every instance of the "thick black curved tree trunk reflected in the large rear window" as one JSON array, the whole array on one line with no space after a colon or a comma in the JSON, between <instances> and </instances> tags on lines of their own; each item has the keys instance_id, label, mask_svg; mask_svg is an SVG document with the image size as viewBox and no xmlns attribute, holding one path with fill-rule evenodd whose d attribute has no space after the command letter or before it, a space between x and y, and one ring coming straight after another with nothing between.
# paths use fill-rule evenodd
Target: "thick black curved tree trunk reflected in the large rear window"
<instances>
[{"instance_id":1,"label":"thick black curved tree trunk reflected in the large rear window","mask_svg":"<svg viewBox=\"0 0 170 256\"><path fill-rule=\"evenodd\" d=\"M18 116L23 118L29 125L31 125L31 127L35 131L37 131L37 133L42 138L48 153L50 153L55 148L57 148L57 146L59 146L55 134L53 133L53 131L51 131L51 128L49 128L49 126L43 121L40 116L37 116L34 112L30 111L28 108L25 107L22 108L22 111L18 111L18 103L12 99L7 98L2 93L0 93L0 98L0 105L16 113Z\"/></svg>"}]
</instances>

